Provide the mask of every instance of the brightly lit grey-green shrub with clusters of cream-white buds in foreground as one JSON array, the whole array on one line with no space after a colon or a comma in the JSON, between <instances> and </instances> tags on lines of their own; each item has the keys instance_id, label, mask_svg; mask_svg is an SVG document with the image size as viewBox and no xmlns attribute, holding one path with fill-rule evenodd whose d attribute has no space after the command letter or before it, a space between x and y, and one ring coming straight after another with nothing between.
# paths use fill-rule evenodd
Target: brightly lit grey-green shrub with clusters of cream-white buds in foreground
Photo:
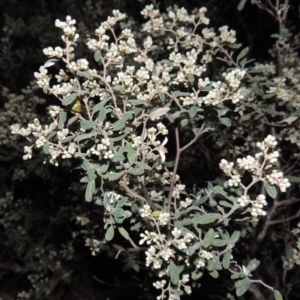
<instances>
[{"instance_id":1,"label":"brightly lit grey-green shrub with clusters of cream-white buds in foreground","mask_svg":"<svg viewBox=\"0 0 300 300\"><path fill-rule=\"evenodd\" d=\"M78 210L83 235L92 235L86 246L95 256L111 244L117 256L126 252L128 267L136 271L134 255L145 252L144 265L156 274L157 299L180 299L204 274L216 279L223 270L238 297L260 283L282 299L277 288L252 279L259 260L249 255L239 261L236 251L256 228L261 242L276 222L276 209L298 201L292 194L282 200L278 191L286 193L290 181L298 180L285 177L291 169L284 170L280 151L287 141L299 144L290 126L298 119L299 58L289 47L288 7L257 5L280 24L271 52L279 62L249 61L235 31L208 27L204 7L189 13L174 6L161 13L147 5L141 28L113 10L96 38L86 41L93 60L77 58L76 21L56 20L63 45L45 48L48 60L34 73L44 93L57 99L48 107L51 121L35 117L25 127L10 126L12 135L28 141L24 160L40 149L44 163L80 164L85 200L100 207L103 217L100 226ZM53 66L59 67L56 74ZM298 156L292 159L292 165L298 162ZM202 164L214 164L213 170L219 165L228 180L218 172L205 185L184 178L184 169ZM195 176L203 177L197 171ZM112 244L118 235L122 246ZM72 245L65 249L72 257Z\"/></svg>"}]
</instances>

